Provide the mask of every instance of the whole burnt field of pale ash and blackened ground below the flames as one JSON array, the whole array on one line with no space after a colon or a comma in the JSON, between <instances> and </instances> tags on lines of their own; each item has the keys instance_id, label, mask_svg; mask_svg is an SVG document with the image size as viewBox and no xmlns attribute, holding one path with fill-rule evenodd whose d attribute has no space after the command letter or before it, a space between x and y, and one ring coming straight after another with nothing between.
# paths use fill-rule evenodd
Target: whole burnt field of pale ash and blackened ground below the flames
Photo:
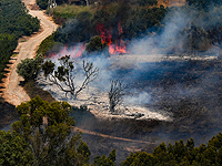
<instances>
[{"instance_id":1,"label":"whole burnt field of pale ash and blackened ground below the flames","mask_svg":"<svg viewBox=\"0 0 222 166\"><path fill-rule=\"evenodd\" d=\"M77 101L65 97L47 81L39 80L39 85L59 101L88 106L89 111L73 114L78 127L153 143L83 134L92 152L91 159L117 148L119 163L130 152L152 152L163 141L173 143L193 137L195 145L200 145L221 132L222 61L216 56L119 55L90 60L100 69L100 76ZM109 112L111 79L128 84L130 92L115 114Z\"/></svg>"}]
</instances>

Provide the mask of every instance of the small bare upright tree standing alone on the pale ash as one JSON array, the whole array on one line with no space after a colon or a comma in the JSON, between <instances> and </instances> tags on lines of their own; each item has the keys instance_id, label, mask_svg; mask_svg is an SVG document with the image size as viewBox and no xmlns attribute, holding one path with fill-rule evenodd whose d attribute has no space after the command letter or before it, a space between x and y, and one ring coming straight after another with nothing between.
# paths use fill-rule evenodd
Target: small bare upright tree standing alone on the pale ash
<instances>
[{"instance_id":1,"label":"small bare upright tree standing alone on the pale ash","mask_svg":"<svg viewBox=\"0 0 222 166\"><path fill-rule=\"evenodd\" d=\"M125 85L119 80L111 80L111 86L109 92L110 112L114 112L114 107L122 102L122 97L125 95Z\"/></svg>"}]
</instances>

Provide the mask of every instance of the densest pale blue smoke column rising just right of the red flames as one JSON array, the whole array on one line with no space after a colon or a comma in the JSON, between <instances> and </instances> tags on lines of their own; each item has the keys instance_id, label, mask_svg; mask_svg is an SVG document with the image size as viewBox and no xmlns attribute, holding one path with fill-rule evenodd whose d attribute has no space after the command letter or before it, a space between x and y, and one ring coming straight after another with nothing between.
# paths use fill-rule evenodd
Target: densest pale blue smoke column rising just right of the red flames
<instances>
[{"instance_id":1,"label":"densest pale blue smoke column rising just right of the red flames","mask_svg":"<svg viewBox=\"0 0 222 166\"><path fill-rule=\"evenodd\" d=\"M183 39L176 40L179 33L191 22L191 15L181 10L169 11L163 20L162 31L157 34L153 32L150 37L132 40L130 52L133 54L165 54L175 44L181 43ZM182 45L179 49L182 51ZM165 50L168 49L168 50Z\"/></svg>"}]
</instances>

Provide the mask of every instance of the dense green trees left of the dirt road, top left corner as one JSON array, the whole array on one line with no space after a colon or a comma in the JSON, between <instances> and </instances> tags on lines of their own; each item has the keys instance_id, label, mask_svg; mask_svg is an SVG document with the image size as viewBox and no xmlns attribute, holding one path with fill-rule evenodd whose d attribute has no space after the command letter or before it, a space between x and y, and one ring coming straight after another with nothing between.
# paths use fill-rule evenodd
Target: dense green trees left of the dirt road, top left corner
<instances>
[{"instance_id":1,"label":"dense green trees left of the dirt road, top left corner","mask_svg":"<svg viewBox=\"0 0 222 166\"><path fill-rule=\"evenodd\" d=\"M18 39L30 35L40 29L37 18L27 13L20 0L0 0L0 80L6 64L9 62Z\"/></svg>"}]
</instances>

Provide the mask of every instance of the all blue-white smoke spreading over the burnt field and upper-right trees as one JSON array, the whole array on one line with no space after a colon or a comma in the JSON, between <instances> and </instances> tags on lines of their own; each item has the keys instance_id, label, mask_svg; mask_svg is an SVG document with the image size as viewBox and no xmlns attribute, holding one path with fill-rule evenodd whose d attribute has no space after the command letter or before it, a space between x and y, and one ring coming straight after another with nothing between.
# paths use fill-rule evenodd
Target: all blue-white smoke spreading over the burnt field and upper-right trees
<instances>
[{"instance_id":1,"label":"all blue-white smoke spreading over the burnt field and upper-right trees","mask_svg":"<svg viewBox=\"0 0 222 166\"><path fill-rule=\"evenodd\" d=\"M90 100L99 95L99 100L94 101L98 103L105 103L103 108L101 108L103 111L105 111L105 108L109 111L108 92L110 90L111 80L120 80L123 84L129 85L127 90L129 93L123 97L122 104L124 106L138 105L138 107L141 107L157 103L167 103L169 106L169 102L163 101L165 96L170 96L169 101L172 100L172 103L179 103L182 98L198 98L199 95L196 95L196 92L203 89L196 84L191 84L189 89L186 87L185 83L189 82L186 79L190 76L190 73L186 73L190 72L189 69L185 68L186 62L184 64L176 62L176 64L164 64L162 59L169 53L171 53L172 56L178 56L178 54L186 52L186 49L190 49L186 44L189 43L188 40L190 40L189 33L191 32L191 27L209 28L215 25L215 23L219 22L215 17L213 18L215 13L222 13L220 12L220 8L215 7L209 10L208 13L190 7L171 8L168 9L159 32L152 32L147 37L133 39L128 43L129 54L111 55L108 58L102 55L105 53L100 53L87 56L82 49L82 43L79 43L74 46L64 46L58 54L53 55L52 59L56 61L56 59L62 55L70 54L80 68L82 59L93 62L94 66L99 69L99 76L94 82L89 84L88 89L84 90L82 94L84 94L83 96L85 97L85 93L89 93L87 98ZM220 14L218 15L220 17ZM60 31L62 34L65 34L68 32L74 32L75 29L79 31L78 21L72 20ZM211 52L218 52L212 48L210 49ZM81 52L81 55L79 52ZM196 80L194 75L191 75L191 77ZM84 75L78 74L75 76L75 82L81 84L83 79ZM163 95L161 96L161 94ZM202 93L198 94L201 95ZM61 96L61 94L59 95ZM79 98L81 98L81 101L87 101L83 100L83 96L79 96ZM60 98L65 100L64 96ZM77 104L77 102L70 102ZM90 104L89 101L87 103Z\"/></svg>"}]
</instances>

